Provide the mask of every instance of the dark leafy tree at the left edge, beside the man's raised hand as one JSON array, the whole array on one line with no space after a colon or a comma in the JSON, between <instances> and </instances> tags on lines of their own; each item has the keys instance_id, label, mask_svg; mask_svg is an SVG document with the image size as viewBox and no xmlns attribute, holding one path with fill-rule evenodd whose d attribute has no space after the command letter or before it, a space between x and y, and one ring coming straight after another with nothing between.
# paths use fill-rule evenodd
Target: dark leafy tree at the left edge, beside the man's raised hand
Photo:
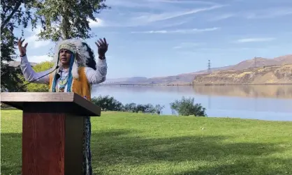
<instances>
[{"instance_id":1,"label":"dark leafy tree at the left edge, beside the man's raised hand","mask_svg":"<svg viewBox=\"0 0 292 175\"><path fill-rule=\"evenodd\" d=\"M23 7L21 5L24 5ZM15 91L21 80L17 76L20 68L9 66L10 61L15 61L15 28L26 28L31 22L32 28L36 19L31 16L34 0L3 0L1 1L1 91Z\"/></svg>"}]
</instances>

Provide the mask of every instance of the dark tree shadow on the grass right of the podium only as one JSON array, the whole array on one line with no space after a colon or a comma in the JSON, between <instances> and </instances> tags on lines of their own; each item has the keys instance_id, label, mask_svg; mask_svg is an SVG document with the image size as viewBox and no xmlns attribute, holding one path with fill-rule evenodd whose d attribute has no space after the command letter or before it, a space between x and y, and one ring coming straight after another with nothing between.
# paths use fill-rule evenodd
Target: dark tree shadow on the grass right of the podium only
<instances>
[{"instance_id":1,"label":"dark tree shadow on the grass right of the podium only","mask_svg":"<svg viewBox=\"0 0 292 175\"><path fill-rule=\"evenodd\" d=\"M132 136L131 136L132 135ZM288 168L291 160L273 162L272 159L264 160L263 156L280 153L285 149L278 144L263 143L232 143L223 142L231 139L226 136L190 136L169 138L133 137L138 135L136 130L112 130L107 132L92 133L92 153L94 165L106 169L115 165L145 165L147 163L207 161L210 167L196 167L196 171L182 174L244 174L244 172L258 172L254 165L269 164L277 167ZM256 163L256 161L258 163ZM215 166L214 165L218 165ZM227 169L227 170L225 170ZM268 169L267 169L268 170ZM274 171L275 170L275 171ZM273 172L281 172L280 168ZM277 171L276 171L277 170ZM98 168L98 174L104 174ZM272 169L271 169L272 171ZM283 169L283 171L286 171ZM172 174L168 172L166 174Z\"/></svg>"}]
</instances>

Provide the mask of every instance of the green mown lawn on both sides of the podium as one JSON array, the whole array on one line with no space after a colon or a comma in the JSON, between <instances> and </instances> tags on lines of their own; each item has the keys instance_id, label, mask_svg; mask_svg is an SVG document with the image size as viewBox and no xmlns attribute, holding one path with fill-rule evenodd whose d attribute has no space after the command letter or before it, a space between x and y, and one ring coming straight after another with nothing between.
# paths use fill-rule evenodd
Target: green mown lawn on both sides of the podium
<instances>
[{"instance_id":1,"label":"green mown lawn on both sides of the podium","mask_svg":"<svg viewBox=\"0 0 292 175\"><path fill-rule=\"evenodd\" d=\"M1 174L21 172L22 112L1 111ZM292 122L104 112L94 174L292 174Z\"/></svg>"}]
</instances>

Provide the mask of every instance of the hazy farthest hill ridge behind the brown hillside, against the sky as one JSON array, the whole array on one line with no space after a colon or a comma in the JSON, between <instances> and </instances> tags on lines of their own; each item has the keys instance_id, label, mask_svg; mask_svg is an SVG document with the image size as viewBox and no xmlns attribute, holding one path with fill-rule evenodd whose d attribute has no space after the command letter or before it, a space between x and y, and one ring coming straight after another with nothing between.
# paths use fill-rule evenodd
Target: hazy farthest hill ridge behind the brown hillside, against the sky
<instances>
[{"instance_id":1,"label":"hazy farthest hill ridge behind the brown hillside, against the sky","mask_svg":"<svg viewBox=\"0 0 292 175\"><path fill-rule=\"evenodd\" d=\"M261 67L264 66L277 66L284 64L292 64L292 54L279 56L274 59L265 59L261 57L256 57L255 59L248 59L245 61L241 61L238 64L225 66L221 68L212 68L212 73L221 71L221 70L245 70L249 68ZM105 84L187 84L194 81L194 78L198 75L204 75L207 73L207 70L201 70L194 73L183 73L180 75L173 75L168 77L129 77L129 78L121 78L121 79L108 79Z\"/></svg>"}]
</instances>

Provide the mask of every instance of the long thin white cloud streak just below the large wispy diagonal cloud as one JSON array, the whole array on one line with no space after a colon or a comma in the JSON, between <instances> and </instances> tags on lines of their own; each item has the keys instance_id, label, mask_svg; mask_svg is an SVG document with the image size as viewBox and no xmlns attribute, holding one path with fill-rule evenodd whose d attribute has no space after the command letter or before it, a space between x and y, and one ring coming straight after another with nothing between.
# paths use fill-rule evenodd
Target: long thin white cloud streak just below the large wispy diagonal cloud
<instances>
[{"instance_id":1,"label":"long thin white cloud streak just below the large wispy diagonal cloud","mask_svg":"<svg viewBox=\"0 0 292 175\"><path fill-rule=\"evenodd\" d=\"M161 34L166 34L166 33L181 33L181 34L186 34L186 33L200 33L204 31L216 31L220 29L219 27L213 27L213 28L207 28L207 29L181 29L181 30L173 30L173 31L166 31L166 30L161 30L161 31L132 31L131 33L161 33Z\"/></svg>"}]
</instances>

